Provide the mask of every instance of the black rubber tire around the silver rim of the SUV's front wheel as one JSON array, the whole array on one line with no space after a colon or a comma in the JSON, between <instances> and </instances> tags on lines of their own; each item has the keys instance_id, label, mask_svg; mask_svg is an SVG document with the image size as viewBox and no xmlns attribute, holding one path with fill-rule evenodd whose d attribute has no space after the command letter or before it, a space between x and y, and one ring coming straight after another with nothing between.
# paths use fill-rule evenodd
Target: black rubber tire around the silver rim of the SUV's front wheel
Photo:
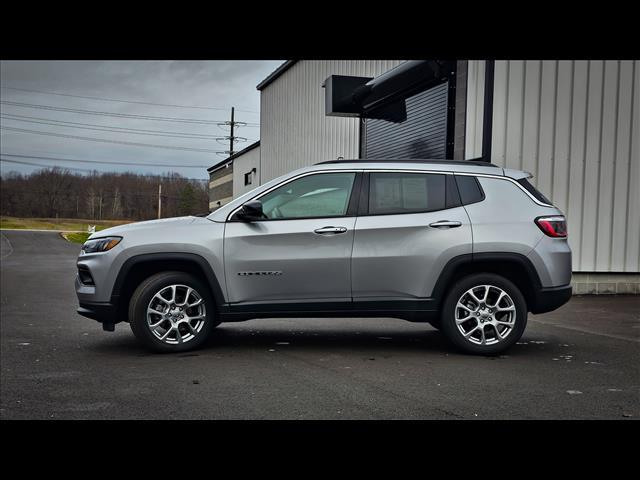
<instances>
[{"instance_id":1,"label":"black rubber tire around the silver rim of the SUV's front wheel","mask_svg":"<svg viewBox=\"0 0 640 480\"><path fill-rule=\"evenodd\" d=\"M195 290L202 298L205 309L203 313L205 315L204 322L197 334L187 331L187 335L193 335L193 337L175 344L166 343L156 337L147 323L147 307L152 298L156 293L171 285L185 285ZM186 289L183 289L183 291L186 292ZM185 313L186 310L185 308ZM197 277L184 272L160 272L150 276L138 285L129 302L129 323L133 334L145 347L159 353L184 352L198 348L207 340L211 331L220 324L216 317L215 301L209 288ZM167 325L170 326L171 323ZM184 330L187 327L178 328ZM175 341L178 341L177 332L170 334L170 336L175 336ZM182 340L182 335L180 335L180 340ZM168 341L171 341L171 338Z\"/></svg>"}]
</instances>

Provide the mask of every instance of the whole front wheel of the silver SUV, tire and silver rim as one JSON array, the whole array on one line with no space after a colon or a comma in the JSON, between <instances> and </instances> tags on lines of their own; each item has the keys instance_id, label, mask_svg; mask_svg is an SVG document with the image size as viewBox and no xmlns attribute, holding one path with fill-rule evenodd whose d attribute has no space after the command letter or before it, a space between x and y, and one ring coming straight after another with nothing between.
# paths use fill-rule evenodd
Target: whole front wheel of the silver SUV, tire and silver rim
<instances>
[{"instance_id":1,"label":"whole front wheel of the silver SUV, tire and silver rim","mask_svg":"<svg viewBox=\"0 0 640 480\"><path fill-rule=\"evenodd\" d=\"M138 285L129 302L129 323L145 347L160 353L196 349L220 324L209 288L183 272L160 272Z\"/></svg>"}]
</instances>

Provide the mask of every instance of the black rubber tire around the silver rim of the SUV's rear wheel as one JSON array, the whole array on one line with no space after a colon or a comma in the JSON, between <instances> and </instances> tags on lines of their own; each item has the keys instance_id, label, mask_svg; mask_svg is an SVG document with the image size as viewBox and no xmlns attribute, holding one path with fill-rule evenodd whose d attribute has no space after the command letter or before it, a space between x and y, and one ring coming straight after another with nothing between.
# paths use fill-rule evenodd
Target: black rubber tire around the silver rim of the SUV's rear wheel
<instances>
[{"instance_id":1,"label":"black rubber tire around the silver rim of the SUV's rear wheel","mask_svg":"<svg viewBox=\"0 0 640 480\"><path fill-rule=\"evenodd\" d=\"M470 314L467 323L463 324L462 328L467 329L466 333L469 333L474 328L474 326L478 327L478 333L472 334L472 338L476 338L476 335L480 337L485 332L487 334L487 337L493 335L493 338L491 338L490 341L496 341L496 343L491 345L476 344L472 340L465 338L463 332L460 331L456 323L456 305L458 303L458 300L461 299L465 292L474 287L478 287L479 289L475 290L474 293L483 292L484 290L481 288L481 286L484 285L494 286L503 290L510 297L513 307L515 308L515 319L513 321L512 330L509 331L505 335L505 338L501 340L498 338L495 332L496 327L492 327L489 324L481 325L478 318L474 318L471 316L475 315L475 313ZM493 298L499 295L497 290L490 291L492 292L490 293L490 295L494 295ZM501 303L502 302L508 303L508 299L502 300ZM491 301L488 302L488 304L490 305ZM504 305L504 303L502 304ZM460 310L460 312L464 312L464 310ZM496 315L504 314L501 313ZM475 324L473 323L474 321L476 322ZM467 353L473 353L477 355L495 355L504 352L518 340L520 340L520 337L522 337L526 326L527 304L524 296L522 295L518 287L516 287L511 281L493 273L478 273L463 277L462 279L457 281L455 285L449 290L449 293L447 294L442 306L440 319L440 328L442 332L457 348ZM503 329L504 326L497 325L497 328ZM480 329L482 329L483 332L480 332ZM505 331L506 330L502 330L502 333L504 333ZM477 341L481 341L481 339L478 338Z\"/></svg>"}]
</instances>

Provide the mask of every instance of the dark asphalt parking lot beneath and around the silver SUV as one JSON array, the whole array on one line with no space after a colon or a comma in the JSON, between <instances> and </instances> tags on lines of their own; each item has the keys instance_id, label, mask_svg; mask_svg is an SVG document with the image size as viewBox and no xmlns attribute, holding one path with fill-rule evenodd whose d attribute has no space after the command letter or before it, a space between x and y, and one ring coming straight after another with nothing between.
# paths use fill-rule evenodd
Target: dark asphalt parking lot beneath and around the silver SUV
<instances>
[{"instance_id":1,"label":"dark asphalt parking lot beneath and around the silver SUV","mask_svg":"<svg viewBox=\"0 0 640 480\"><path fill-rule=\"evenodd\" d=\"M267 319L143 350L75 313L78 245L3 231L2 419L637 419L640 298L574 297L499 357L428 324Z\"/></svg>"}]
</instances>

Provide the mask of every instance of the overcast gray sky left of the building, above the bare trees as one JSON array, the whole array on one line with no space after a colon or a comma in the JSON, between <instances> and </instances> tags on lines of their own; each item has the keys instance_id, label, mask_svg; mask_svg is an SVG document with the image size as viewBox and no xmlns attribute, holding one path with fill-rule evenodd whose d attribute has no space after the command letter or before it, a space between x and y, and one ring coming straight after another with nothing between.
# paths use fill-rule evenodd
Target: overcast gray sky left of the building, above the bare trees
<instances>
[{"instance_id":1,"label":"overcast gray sky left of the building, above the bare trees","mask_svg":"<svg viewBox=\"0 0 640 480\"><path fill-rule=\"evenodd\" d=\"M236 121L257 125L260 122L258 114L260 94L255 87L281 63L281 60L3 61L0 63L0 85L3 87L0 90L3 102L0 105L2 113L0 125L3 127L0 130L2 158L98 171L133 171L151 174L175 171L186 177L206 179L208 177L206 167L219 162L225 157L224 155L215 152L123 145L57 135L182 148L228 150L228 142L219 143L215 138L193 137L194 134L223 137L229 134L227 126L220 127L215 123L200 124L131 118L122 115L216 122L229 120L231 107L234 106ZM7 87L133 102L215 107L223 110L105 101L25 92ZM39 107L32 108L12 103ZM57 110L58 108L90 110L102 112L102 114L61 111ZM119 114L119 116L107 114ZM105 128L115 131L105 131ZM20 132L13 129L55 135ZM146 132L132 133L123 129L138 129ZM175 134L190 134L192 137L168 136ZM244 126L236 131L236 135L250 139L247 142L237 143L235 146L237 151L258 140L260 129L257 126ZM63 162L6 155L106 160L132 163L135 166ZM202 165L203 167L150 167L144 166L145 163ZM41 167L0 163L0 171L3 174L11 170L28 173L39 168Z\"/></svg>"}]
</instances>

